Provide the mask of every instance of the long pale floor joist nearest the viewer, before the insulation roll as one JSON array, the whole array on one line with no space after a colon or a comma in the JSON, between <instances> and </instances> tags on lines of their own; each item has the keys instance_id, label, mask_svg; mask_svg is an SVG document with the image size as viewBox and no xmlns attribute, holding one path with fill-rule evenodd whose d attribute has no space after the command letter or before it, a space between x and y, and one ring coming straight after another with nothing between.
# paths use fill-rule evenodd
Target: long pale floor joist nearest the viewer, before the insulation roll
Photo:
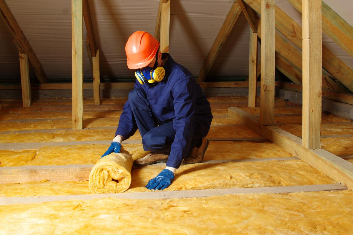
<instances>
[{"instance_id":1,"label":"long pale floor joist nearest the viewer, before the insulation roll","mask_svg":"<svg viewBox=\"0 0 353 235\"><path fill-rule=\"evenodd\" d=\"M127 199L168 199L168 198L190 198L211 197L225 194L237 193L293 193L345 190L341 184L325 185L303 185L303 186L279 186L279 187L257 187L257 188L226 188L226 189L204 189L204 190L182 190L182 191L155 191L134 193L102 193L86 195L64 195L64 196L37 196L37 197L0 197L0 205L31 204L65 200L90 200L97 198L127 198Z\"/></svg>"}]
</instances>

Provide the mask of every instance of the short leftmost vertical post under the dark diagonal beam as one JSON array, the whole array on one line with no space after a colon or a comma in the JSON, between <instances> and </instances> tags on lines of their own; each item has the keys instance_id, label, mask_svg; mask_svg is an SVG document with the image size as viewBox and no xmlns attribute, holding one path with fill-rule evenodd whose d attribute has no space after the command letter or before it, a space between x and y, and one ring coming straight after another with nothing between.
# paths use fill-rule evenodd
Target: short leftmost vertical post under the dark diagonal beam
<instances>
[{"instance_id":1,"label":"short leftmost vertical post under the dark diagonal beam","mask_svg":"<svg viewBox=\"0 0 353 235\"><path fill-rule=\"evenodd\" d=\"M21 54L20 57L20 72L21 72L21 88L22 88L22 104L23 107L30 107L31 102L31 84L29 81L29 64L28 56L26 54Z\"/></svg>"}]
</instances>

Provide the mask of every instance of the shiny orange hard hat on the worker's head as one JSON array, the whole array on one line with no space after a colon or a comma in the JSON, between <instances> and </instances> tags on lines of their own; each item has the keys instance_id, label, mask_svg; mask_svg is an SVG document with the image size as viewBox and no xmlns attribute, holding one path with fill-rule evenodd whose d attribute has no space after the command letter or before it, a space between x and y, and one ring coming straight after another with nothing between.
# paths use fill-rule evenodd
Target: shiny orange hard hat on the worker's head
<instances>
[{"instance_id":1,"label":"shiny orange hard hat on the worker's head","mask_svg":"<svg viewBox=\"0 0 353 235\"><path fill-rule=\"evenodd\" d=\"M148 32L136 31L126 42L127 67L139 69L148 66L156 55L159 42Z\"/></svg>"}]
</instances>

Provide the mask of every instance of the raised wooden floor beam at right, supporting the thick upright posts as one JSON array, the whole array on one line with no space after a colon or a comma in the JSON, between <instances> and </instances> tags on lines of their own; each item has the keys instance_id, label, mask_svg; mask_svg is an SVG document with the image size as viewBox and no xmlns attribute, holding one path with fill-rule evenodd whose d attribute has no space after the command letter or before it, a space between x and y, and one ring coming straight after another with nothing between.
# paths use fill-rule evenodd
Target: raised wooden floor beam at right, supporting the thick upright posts
<instances>
[{"instance_id":1,"label":"raised wooden floor beam at right, supporting the thick upright posts","mask_svg":"<svg viewBox=\"0 0 353 235\"><path fill-rule=\"evenodd\" d=\"M340 182L349 189L353 188L353 163L323 149L307 149L301 144L301 138L277 126L261 125L258 117L237 107L228 108L228 115L318 169L328 177Z\"/></svg>"}]
</instances>

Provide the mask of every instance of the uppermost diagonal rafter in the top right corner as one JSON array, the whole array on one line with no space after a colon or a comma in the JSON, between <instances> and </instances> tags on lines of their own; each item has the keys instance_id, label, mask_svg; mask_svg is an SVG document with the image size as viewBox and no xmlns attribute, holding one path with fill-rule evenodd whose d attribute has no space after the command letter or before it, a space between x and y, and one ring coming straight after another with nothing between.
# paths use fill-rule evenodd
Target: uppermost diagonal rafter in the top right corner
<instances>
[{"instance_id":1,"label":"uppermost diagonal rafter in the top right corner","mask_svg":"<svg viewBox=\"0 0 353 235\"><path fill-rule=\"evenodd\" d=\"M302 0L288 0L301 12ZM322 4L322 30L343 50L353 56L353 27L343 20L324 1Z\"/></svg>"}]
</instances>

